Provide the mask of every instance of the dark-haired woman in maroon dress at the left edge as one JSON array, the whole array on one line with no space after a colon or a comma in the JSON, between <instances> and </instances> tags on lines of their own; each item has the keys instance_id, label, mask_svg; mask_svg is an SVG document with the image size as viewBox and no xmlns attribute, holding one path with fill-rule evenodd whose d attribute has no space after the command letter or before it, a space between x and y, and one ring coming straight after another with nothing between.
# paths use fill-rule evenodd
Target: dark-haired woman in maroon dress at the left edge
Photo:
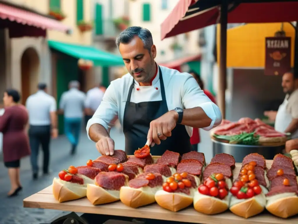
<instances>
[{"instance_id":1,"label":"dark-haired woman in maroon dress at the left edge","mask_svg":"<svg viewBox=\"0 0 298 224\"><path fill-rule=\"evenodd\" d=\"M4 165L8 168L11 189L8 196L15 196L21 191L20 159L30 155L29 139L26 134L28 113L23 105L18 105L20 94L17 90L4 92L5 111L0 116L0 132L3 133Z\"/></svg>"}]
</instances>

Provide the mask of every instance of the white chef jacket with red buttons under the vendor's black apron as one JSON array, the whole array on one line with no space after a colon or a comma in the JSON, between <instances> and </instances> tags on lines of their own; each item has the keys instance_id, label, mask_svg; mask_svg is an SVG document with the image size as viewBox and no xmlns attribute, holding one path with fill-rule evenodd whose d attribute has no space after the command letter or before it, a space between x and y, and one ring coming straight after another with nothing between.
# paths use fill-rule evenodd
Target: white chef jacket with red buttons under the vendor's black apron
<instances>
[{"instance_id":1,"label":"white chef jacket with red buttons under the vendor's black apron","mask_svg":"<svg viewBox=\"0 0 298 224\"><path fill-rule=\"evenodd\" d=\"M163 66L159 67L162 71L164 91L169 111L176 107L183 109L201 107L212 120L209 127L203 128L204 130L208 131L221 123L222 116L218 106L205 95L192 75L185 72L180 73L178 70ZM100 124L108 130L111 127L111 120L116 115L118 115L119 121L123 126L125 104L132 82L133 77L129 73L111 82L105 91L103 101L87 123L86 130L89 139L89 128L91 125ZM131 102L139 103L162 100L159 71L153 79L151 86L140 86L135 80L134 82L135 85L131 93ZM139 90L137 90L137 88ZM189 136L191 136L193 128L188 126L185 126L185 128Z\"/></svg>"}]
</instances>

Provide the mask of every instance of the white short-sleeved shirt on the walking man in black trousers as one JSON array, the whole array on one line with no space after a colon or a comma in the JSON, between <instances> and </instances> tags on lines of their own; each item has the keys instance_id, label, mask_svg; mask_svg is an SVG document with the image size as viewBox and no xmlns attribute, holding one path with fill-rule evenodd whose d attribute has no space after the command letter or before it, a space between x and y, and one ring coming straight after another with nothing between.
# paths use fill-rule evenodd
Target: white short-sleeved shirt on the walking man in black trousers
<instances>
[{"instance_id":1,"label":"white short-sleeved shirt on the walking man in black trousers","mask_svg":"<svg viewBox=\"0 0 298 224\"><path fill-rule=\"evenodd\" d=\"M50 125L50 112L57 110L57 104L54 97L43 90L38 90L26 100L26 108L29 114L30 125Z\"/></svg>"}]
</instances>

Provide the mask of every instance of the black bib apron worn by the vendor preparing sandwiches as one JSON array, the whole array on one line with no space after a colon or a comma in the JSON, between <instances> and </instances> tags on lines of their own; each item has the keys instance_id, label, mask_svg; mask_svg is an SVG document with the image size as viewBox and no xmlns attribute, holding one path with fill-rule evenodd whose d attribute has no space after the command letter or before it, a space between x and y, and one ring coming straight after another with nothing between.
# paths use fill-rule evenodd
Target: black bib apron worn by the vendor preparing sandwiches
<instances>
[{"instance_id":1,"label":"black bib apron worn by the vendor preparing sandwiches","mask_svg":"<svg viewBox=\"0 0 298 224\"><path fill-rule=\"evenodd\" d=\"M169 111L160 67L159 81L160 91L162 94L161 101L140 103L130 102L131 93L134 89L134 80L129 88L123 116L125 152L128 155L133 155L135 150L144 147L147 142L147 134L150 128L150 122ZM190 136L188 135L184 125L177 124L172 130L172 136L167 137L166 140L161 140L160 145L155 144L153 147L151 147L150 153L153 156L161 156L166 150L178 152L180 154L192 151Z\"/></svg>"}]
</instances>

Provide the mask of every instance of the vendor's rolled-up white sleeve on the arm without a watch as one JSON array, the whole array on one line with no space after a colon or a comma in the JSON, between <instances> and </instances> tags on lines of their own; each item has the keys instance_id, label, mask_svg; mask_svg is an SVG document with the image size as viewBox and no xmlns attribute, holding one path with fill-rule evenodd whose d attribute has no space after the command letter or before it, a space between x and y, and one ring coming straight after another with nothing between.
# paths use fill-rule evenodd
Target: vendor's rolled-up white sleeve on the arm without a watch
<instances>
[{"instance_id":1,"label":"vendor's rolled-up white sleeve on the arm without a watch","mask_svg":"<svg viewBox=\"0 0 298 224\"><path fill-rule=\"evenodd\" d=\"M92 118L87 123L87 134L89 136L89 128L91 125L100 124L107 131L111 127L112 119L118 114L118 104L116 99L116 93L113 82L109 85L105 94L103 96L103 101L100 103L99 107L95 111Z\"/></svg>"}]
</instances>

